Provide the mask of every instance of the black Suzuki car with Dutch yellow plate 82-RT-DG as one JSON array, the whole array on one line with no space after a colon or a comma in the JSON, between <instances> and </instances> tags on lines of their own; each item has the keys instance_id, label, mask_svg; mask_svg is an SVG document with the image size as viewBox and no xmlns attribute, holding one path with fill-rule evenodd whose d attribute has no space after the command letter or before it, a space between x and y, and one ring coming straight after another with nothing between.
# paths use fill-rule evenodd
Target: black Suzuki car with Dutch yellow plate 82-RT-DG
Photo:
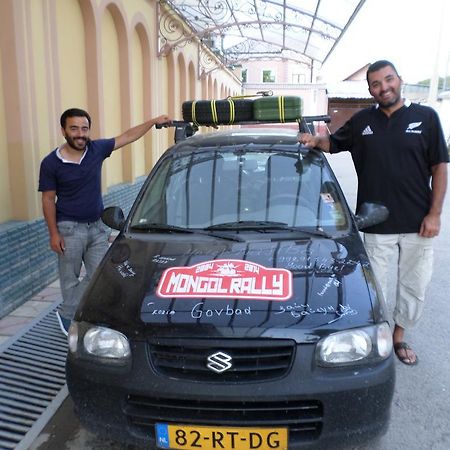
<instances>
[{"instance_id":1,"label":"black Suzuki car with Dutch yellow plate 82-RT-DG","mask_svg":"<svg viewBox=\"0 0 450 450\"><path fill-rule=\"evenodd\" d=\"M324 155L294 131L194 135L160 158L82 299L67 384L144 448L336 448L386 429L384 300Z\"/></svg>"}]
</instances>

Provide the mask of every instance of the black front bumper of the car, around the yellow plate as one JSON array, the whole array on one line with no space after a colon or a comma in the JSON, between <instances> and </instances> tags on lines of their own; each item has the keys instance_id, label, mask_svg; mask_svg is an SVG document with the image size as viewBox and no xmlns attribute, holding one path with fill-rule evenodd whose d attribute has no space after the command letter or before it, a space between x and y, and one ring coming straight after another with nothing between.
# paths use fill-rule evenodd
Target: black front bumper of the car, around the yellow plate
<instances>
[{"instance_id":1,"label":"black front bumper of the car, around the yellow plate","mask_svg":"<svg viewBox=\"0 0 450 450\"><path fill-rule=\"evenodd\" d=\"M270 381L193 382L163 376L135 342L129 369L69 354L67 385L82 423L99 434L155 448L155 424L288 427L289 449L334 448L385 431L393 357L371 366L321 368L315 345L298 345L288 373Z\"/></svg>"}]
</instances>

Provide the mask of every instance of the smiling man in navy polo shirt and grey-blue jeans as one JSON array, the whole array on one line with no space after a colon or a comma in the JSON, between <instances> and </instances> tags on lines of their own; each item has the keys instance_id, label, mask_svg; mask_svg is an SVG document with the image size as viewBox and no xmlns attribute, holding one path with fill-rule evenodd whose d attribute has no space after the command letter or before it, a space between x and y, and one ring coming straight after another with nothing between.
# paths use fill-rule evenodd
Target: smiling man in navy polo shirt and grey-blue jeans
<instances>
[{"instance_id":1,"label":"smiling man in navy polo shirt and grey-blue jeans","mask_svg":"<svg viewBox=\"0 0 450 450\"><path fill-rule=\"evenodd\" d=\"M61 115L66 142L42 160L39 191L50 247L58 254L63 302L57 317L66 335L83 290L108 249L108 233L100 220L103 161L153 125L168 122L169 117L161 115L115 138L91 141L91 118L86 111L72 108ZM83 263L86 274L80 280Z\"/></svg>"}]
</instances>

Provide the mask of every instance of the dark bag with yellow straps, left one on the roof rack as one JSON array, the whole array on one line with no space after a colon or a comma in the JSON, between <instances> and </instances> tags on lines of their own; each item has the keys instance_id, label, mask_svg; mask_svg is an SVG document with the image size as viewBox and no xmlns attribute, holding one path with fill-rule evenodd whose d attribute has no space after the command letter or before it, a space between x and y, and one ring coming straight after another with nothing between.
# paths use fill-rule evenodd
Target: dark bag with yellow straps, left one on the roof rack
<instances>
[{"instance_id":1,"label":"dark bag with yellow straps, left one on the roof rack","mask_svg":"<svg viewBox=\"0 0 450 450\"><path fill-rule=\"evenodd\" d=\"M253 119L253 100L233 99L183 102L183 120L196 125L231 125Z\"/></svg>"}]
</instances>

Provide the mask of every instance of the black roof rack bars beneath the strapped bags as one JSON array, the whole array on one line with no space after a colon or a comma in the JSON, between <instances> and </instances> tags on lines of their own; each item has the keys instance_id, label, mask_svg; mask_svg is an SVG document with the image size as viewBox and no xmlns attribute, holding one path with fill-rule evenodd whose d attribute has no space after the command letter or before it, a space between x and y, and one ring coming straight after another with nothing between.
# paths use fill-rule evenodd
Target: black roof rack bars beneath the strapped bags
<instances>
[{"instance_id":1,"label":"black roof rack bars beneath the strapped bags","mask_svg":"<svg viewBox=\"0 0 450 450\"><path fill-rule=\"evenodd\" d=\"M264 125L264 124L283 124L283 123L298 123L298 128L300 133L310 133L315 134L314 122L325 122L330 123L331 118L328 115L319 115L319 116L303 116L297 119L290 119L281 122L279 120L252 120L252 121L242 121L242 122L234 122L230 125ZM211 126L217 128L216 124L202 124L202 126ZM226 125L220 125L226 126ZM179 141L183 141L191 136L193 136L198 131L198 126L191 122L185 122L183 120L173 120L171 123L167 124L156 124L156 128L167 128L173 127L175 128L175 143Z\"/></svg>"}]
</instances>

